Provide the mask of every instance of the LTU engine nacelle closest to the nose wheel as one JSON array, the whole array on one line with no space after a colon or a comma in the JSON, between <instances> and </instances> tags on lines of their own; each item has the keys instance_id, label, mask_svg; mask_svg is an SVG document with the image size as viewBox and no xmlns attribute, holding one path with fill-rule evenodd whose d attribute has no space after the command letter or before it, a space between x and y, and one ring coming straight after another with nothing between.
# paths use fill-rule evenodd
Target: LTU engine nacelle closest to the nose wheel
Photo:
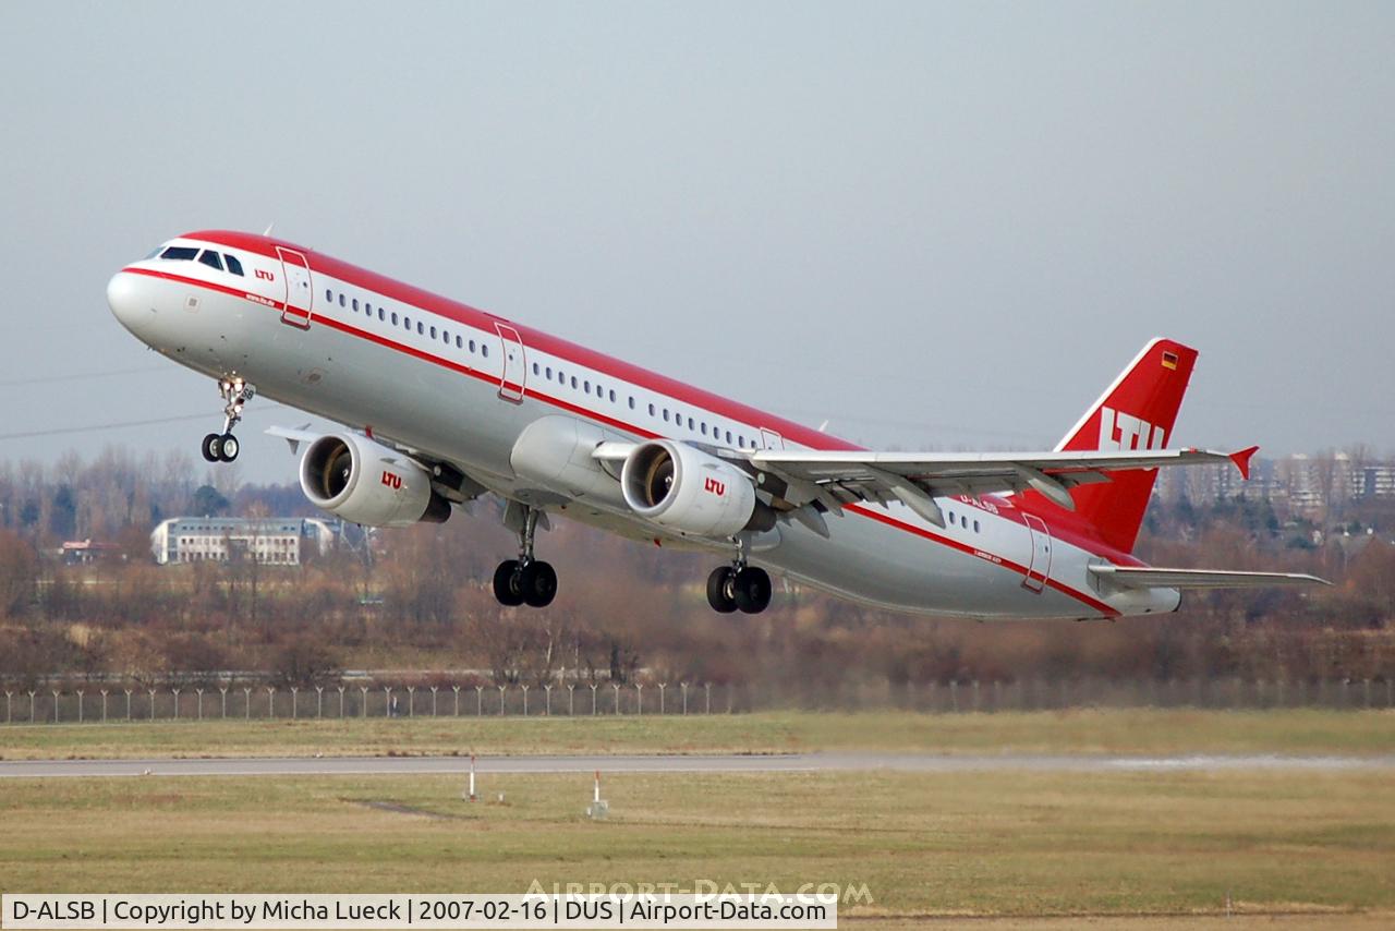
<instances>
[{"instance_id":1,"label":"LTU engine nacelle closest to the nose wheel","mask_svg":"<svg viewBox=\"0 0 1395 931\"><path fill-rule=\"evenodd\" d=\"M353 433L319 437L300 459L300 487L318 508L365 526L442 523L451 502L396 449Z\"/></svg>"}]
</instances>

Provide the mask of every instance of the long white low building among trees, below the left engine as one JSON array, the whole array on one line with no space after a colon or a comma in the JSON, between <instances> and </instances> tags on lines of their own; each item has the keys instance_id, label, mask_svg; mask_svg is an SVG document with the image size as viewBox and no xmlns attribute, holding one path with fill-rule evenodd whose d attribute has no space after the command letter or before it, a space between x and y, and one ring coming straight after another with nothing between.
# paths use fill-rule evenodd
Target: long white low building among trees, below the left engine
<instances>
[{"instance_id":1,"label":"long white low building among trees, below the left engine","mask_svg":"<svg viewBox=\"0 0 1395 931\"><path fill-rule=\"evenodd\" d=\"M326 553L338 521L318 518L170 518L151 532L160 565L255 558L265 565L300 565L301 543Z\"/></svg>"}]
</instances>

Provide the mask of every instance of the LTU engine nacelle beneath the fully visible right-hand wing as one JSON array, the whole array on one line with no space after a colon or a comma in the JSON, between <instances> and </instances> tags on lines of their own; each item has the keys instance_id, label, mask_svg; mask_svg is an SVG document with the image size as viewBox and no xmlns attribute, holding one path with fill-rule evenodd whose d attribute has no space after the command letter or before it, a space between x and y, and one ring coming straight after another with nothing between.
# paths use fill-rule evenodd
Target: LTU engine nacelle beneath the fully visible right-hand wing
<instances>
[{"instance_id":1,"label":"LTU engine nacelle beneath the fully visible right-hand wing","mask_svg":"<svg viewBox=\"0 0 1395 931\"><path fill-rule=\"evenodd\" d=\"M621 470L621 490L639 516L692 536L734 536L757 516L756 486L751 476L730 462L671 440L635 447Z\"/></svg>"}]
</instances>

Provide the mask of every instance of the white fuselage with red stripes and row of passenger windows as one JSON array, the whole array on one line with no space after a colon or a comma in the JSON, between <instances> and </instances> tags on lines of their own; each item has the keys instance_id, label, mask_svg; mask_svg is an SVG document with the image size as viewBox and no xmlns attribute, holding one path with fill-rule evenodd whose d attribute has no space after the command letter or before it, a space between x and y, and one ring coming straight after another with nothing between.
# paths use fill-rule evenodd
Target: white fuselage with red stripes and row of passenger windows
<instances>
[{"instance_id":1,"label":"white fuselage with red stripes and row of passenger windows","mask_svg":"<svg viewBox=\"0 0 1395 931\"><path fill-rule=\"evenodd\" d=\"M530 424L562 415L618 441L847 448L522 325L321 264L314 253L283 247L287 261L266 243L215 246L241 262L241 276L195 261L134 262L112 279L109 300L135 336L199 373L241 375L259 395L449 461L499 496L635 539L677 542L612 496L558 494L518 475L512 456ZM918 613L1094 618L1177 606L1175 590L1102 589L1087 565L1127 554L1049 528L1014 496L937 504L944 528L898 502L829 514L827 537L780 522L753 540L751 560L862 603ZM698 544L732 553L724 543Z\"/></svg>"}]
</instances>

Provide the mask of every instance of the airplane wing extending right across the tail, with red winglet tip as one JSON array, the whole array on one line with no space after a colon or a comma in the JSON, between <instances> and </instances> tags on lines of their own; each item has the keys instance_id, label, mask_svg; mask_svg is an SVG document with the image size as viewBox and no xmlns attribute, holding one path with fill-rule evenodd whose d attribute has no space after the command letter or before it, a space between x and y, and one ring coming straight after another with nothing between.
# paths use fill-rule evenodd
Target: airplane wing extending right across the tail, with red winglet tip
<instances>
[{"instance_id":1,"label":"airplane wing extending right across the tail, with red winglet tip","mask_svg":"<svg viewBox=\"0 0 1395 931\"><path fill-rule=\"evenodd\" d=\"M1074 511L1070 489L1109 482L1112 472L1232 462L1249 477L1250 456L1212 449L1117 449L1084 452L819 452L759 449L751 463L791 484L784 497L795 505L819 501L838 512L857 501L900 500L926 521L944 526L939 496L982 496L1032 489Z\"/></svg>"}]
</instances>

